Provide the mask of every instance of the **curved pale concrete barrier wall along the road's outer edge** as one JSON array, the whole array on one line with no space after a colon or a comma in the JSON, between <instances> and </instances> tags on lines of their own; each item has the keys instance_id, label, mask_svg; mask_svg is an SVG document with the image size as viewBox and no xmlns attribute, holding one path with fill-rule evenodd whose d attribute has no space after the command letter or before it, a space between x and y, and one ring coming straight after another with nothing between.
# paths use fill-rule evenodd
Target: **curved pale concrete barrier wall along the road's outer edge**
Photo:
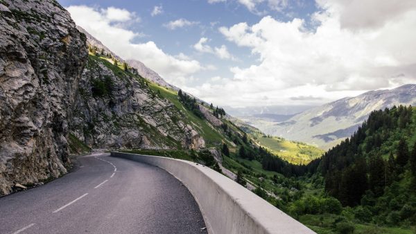
<instances>
[{"instance_id":1,"label":"curved pale concrete barrier wall along the road's outer edge","mask_svg":"<svg viewBox=\"0 0 416 234\"><path fill-rule=\"evenodd\" d=\"M155 165L193 194L212 234L314 233L227 176L195 162L112 152L111 156Z\"/></svg>"}]
</instances>

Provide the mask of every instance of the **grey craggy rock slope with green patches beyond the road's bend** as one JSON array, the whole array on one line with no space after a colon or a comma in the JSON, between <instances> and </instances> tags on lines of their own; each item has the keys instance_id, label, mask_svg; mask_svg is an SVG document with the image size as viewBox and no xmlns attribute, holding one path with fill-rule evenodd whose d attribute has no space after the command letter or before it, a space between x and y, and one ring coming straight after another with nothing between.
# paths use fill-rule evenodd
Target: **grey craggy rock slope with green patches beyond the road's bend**
<instances>
[{"instance_id":1,"label":"grey craggy rock slope with green patches beyond the road's bend","mask_svg":"<svg viewBox=\"0 0 416 234\"><path fill-rule=\"evenodd\" d=\"M73 106L73 135L94 148L205 147L173 103L151 90L144 78L109 61L89 56Z\"/></svg>"}]
</instances>

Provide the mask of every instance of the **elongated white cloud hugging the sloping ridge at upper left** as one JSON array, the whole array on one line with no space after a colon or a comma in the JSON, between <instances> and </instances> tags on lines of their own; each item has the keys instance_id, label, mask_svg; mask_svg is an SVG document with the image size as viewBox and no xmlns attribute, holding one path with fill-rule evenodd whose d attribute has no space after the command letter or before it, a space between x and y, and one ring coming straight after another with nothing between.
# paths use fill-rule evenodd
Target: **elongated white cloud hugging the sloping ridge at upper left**
<instances>
[{"instance_id":1,"label":"elongated white cloud hugging the sloping ridge at upper left","mask_svg":"<svg viewBox=\"0 0 416 234\"><path fill-rule=\"evenodd\" d=\"M123 28L117 22L128 22L135 20L130 12L127 17L126 10L118 8L90 8L88 6L69 6L67 10L79 26L82 26L91 35L101 40L114 53L124 59L136 59L144 62L150 69L154 69L166 81L174 85L182 85L192 74L207 69L196 60L183 59L171 56L159 49L155 42L145 43L132 42L139 33ZM117 15L119 12L120 15Z\"/></svg>"}]
</instances>

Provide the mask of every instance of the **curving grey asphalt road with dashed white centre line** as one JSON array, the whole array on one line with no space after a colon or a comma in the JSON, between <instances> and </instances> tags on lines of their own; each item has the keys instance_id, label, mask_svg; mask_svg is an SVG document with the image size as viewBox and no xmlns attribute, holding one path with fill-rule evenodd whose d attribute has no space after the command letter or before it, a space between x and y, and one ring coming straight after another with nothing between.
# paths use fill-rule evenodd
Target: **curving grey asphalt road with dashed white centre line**
<instances>
[{"instance_id":1,"label":"curving grey asphalt road with dashed white centre line","mask_svg":"<svg viewBox=\"0 0 416 234\"><path fill-rule=\"evenodd\" d=\"M163 169L96 154L46 185L0 198L0 233L207 233L187 187Z\"/></svg>"}]
</instances>

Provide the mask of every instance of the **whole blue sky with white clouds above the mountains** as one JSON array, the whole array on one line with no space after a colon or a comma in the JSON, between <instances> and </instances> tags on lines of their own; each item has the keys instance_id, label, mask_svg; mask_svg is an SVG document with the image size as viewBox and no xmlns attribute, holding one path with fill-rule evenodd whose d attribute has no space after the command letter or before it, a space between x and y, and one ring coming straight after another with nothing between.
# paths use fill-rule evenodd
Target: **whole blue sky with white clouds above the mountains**
<instances>
[{"instance_id":1,"label":"whole blue sky with white clouds above the mountains","mask_svg":"<svg viewBox=\"0 0 416 234\"><path fill-rule=\"evenodd\" d=\"M123 59L218 106L319 105L416 83L414 0L58 0Z\"/></svg>"}]
</instances>

